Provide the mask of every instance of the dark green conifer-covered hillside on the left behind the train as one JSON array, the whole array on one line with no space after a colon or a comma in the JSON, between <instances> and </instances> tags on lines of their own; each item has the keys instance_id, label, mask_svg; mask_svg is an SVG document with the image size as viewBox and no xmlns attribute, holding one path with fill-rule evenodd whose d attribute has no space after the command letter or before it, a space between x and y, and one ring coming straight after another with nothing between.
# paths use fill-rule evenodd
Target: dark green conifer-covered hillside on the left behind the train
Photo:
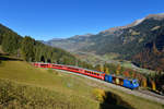
<instances>
[{"instance_id":1,"label":"dark green conifer-covered hillside on the left behind the train","mask_svg":"<svg viewBox=\"0 0 164 109\"><path fill-rule=\"evenodd\" d=\"M54 62L92 68L91 64L81 61L63 49L47 46L31 36L20 36L2 24L0 24L0 47L5 53L27 62Z\"/></svg>"}]
</instances>

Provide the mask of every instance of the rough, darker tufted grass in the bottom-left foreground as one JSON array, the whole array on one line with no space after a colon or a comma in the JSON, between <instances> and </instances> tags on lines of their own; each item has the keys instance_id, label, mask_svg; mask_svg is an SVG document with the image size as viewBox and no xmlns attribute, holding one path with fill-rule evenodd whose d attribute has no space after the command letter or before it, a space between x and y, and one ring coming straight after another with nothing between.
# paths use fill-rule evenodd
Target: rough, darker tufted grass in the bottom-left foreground
<instances>
[{"instance_id":1,"label":"rough, darker tufted grass in the bottom-left foreground","mask_svg":"<svg viewBox=\"0 0 164 109\"><path fill-rule=\"evenodd\" d=\"M75 109L78 105L58 92L0 80L0 109ZM78 100L79 101L79 100ZM78 102L77 101L77 102Z\"/></svg>"}]
</instances>

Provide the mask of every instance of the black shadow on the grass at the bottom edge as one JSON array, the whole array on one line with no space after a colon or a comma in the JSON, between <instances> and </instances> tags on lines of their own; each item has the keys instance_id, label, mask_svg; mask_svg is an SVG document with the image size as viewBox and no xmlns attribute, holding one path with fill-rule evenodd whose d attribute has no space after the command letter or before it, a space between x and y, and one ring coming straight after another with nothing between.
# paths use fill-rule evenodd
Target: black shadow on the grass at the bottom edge
<instances>
[{"instance_id":1,"label":"black shadow on the grass at the bottom edge","mask_svg":"<svg viewBox=\"0 0 164 109\"><path fill-rule=\"evenodd\" d=\"M120 96L106 92L106 97L101 104L101 109L134 109L127 101L124 101Z\"/></svg>"}]
</instances>

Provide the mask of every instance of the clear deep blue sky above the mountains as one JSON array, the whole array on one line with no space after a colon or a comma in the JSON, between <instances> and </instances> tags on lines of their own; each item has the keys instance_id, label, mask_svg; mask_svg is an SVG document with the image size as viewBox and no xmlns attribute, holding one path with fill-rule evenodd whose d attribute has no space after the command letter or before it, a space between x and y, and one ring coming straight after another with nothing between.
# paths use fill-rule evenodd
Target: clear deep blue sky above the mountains
<instances>
[{"instance_id":1,"label":"clear deep blue sky above the mountains","mask_svg":"<svg viewBox=\"0 0 164 109\"><path fill-rule=\"evenodd\" d=\"M97 34L163 12L164 0L0 1L0 23L39 40Z\"/></svg>"}]
</instances>

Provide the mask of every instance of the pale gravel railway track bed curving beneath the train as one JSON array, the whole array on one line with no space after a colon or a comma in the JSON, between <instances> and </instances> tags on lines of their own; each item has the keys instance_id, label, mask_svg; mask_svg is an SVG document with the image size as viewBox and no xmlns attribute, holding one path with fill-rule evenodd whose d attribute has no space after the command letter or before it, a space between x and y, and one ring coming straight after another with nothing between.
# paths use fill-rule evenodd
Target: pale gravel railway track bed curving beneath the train
<instances>
[{"instance_id":1,"label":"pale gravel railway track bed curving beneath the train","mask_svg":"<svg viewBox=\"0 0 164 109\"><path fill-rule=\"evenodd\" d=\"M91 77L91 76L87 76L87 75L82 75L82 74L78 74L78 73L69 72L69 71L63 71L63 70L56 70L56 71L60 71L60 72L63 72L63 73L71 73L71 74L74 74L74 75L83 76L83 77L93 80L95 82L102 83L102 84L104 84L107 87L116 88L116 89L122 90L122 92L125 92L127 94L134 95L134 96L141 97L141 98L149 99L149 100L156 101L159 104L164 105L164 96L154 94L154 93L149 92L149 90L142 90L142 89L131 90L131 89L125 88L122 86L118 86L118 85L115 85L115 84L112 84L112 83L107 83L105 81L101 81L101 80L97 80L97 78L94 78L94 77Z\"/></svg>"}]
</instances>

